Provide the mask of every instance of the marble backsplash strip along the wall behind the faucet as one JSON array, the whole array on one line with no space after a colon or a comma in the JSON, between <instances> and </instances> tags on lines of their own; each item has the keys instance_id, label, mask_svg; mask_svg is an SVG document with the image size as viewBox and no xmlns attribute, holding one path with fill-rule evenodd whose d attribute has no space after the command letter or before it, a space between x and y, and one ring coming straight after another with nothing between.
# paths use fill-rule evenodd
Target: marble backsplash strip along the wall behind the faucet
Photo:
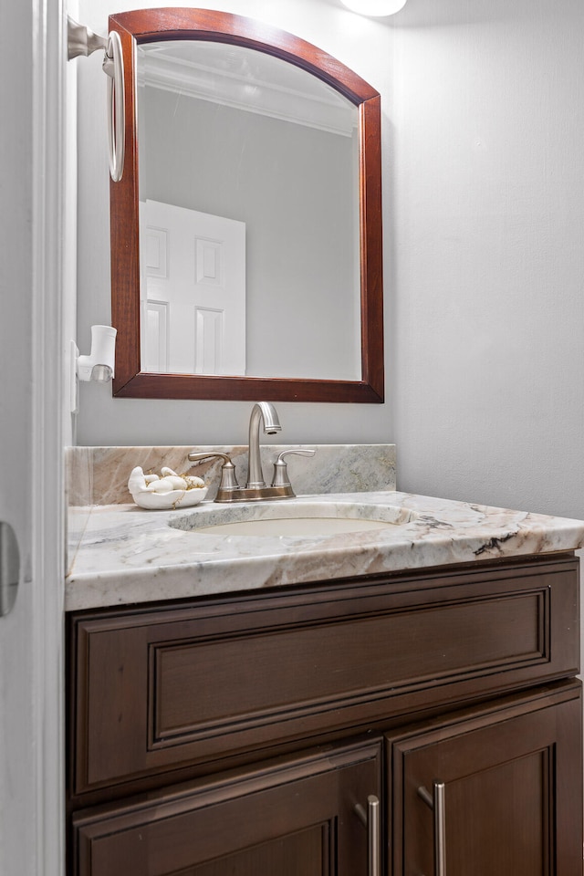
<instances>
[{"instance_id":1,"label":"marble backsplash strip along the wall behind the faucet","mask_svg":"<svg viewBox=\"0 0 584 876\"><path fill-rule=\"evenodd\" d=\"M261 447L266 484L271 483L277 454L298 447L312 447L312 457L288 456L288 474L297 495L362 493L395 490L394 444L266 444ZM162 465L177 474L199 474L213 499L219 485L221 459L193 464L192 451L220 451L235 464L239 484L247 477L246 446L188 447L69 447L66 459L68 505L125 505L132 501L128 477L140 465L144 472L160 474Z\"/></svg>"}]
</instances>

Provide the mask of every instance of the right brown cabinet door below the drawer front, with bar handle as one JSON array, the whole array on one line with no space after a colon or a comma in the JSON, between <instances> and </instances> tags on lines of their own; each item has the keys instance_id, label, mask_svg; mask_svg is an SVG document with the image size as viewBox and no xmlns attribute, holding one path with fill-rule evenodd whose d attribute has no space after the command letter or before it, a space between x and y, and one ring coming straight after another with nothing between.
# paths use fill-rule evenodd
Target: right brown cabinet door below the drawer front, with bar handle
<instances>
[{"instance_id":1,"label":"right brown cabinet door below the drawer front, with bar handle","mask_svg":"<svg viewBox=\"0 0 584 876\"><path fill-rule=\"evenodd\" d=\"M578 683L390 738L392 876L581 876L581 740Z\"/></svg>"}]
</instances>

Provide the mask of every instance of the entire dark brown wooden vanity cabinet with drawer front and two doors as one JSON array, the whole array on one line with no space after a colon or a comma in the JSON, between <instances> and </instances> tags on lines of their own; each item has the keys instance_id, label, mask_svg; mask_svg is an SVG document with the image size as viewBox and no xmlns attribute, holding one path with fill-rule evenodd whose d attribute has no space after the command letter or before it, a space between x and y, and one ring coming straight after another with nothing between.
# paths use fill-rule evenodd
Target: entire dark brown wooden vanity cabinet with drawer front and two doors
<instances>
[{"instance_id":1,"label":"entire dark brown wooden vanity cabinet with drawer front and two doors","mask_svg":"<svg viewBox=\"0 0 584 876\"><path fill-rule=\"evenodd\" d=\"M72 614L69 876L581 876L578 591L555 555Z\"/></svg>"}]
</instances>

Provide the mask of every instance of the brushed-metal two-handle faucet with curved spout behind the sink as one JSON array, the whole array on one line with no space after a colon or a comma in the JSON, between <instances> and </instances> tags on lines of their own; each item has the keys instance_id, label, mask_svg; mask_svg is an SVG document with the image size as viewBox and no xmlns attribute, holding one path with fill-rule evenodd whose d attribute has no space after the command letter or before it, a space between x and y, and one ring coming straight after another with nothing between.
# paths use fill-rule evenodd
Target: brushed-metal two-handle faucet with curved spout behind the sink
<instances>
[{"instance_id":1,"label":"brushed-metal two-handle faucet with curved spout behind the sink","mask_svg":"<svg viewBox=\"0 0 584 876\"><path fill-rule=\"evenodd\" d=\"M263 422L264 433L274 435L282 431L282 426L277 416L276 408L271 401L258 401L249 418L249 466L247 471L247 483L241 487L235 477L235 465L227 454L203 453L189 454L192 463L202 462L203 459L213 459L219 456L224 460L221 466L221 484L215 496L215 502L257 502L260 499L287 499L295 493L287 476L287 464L284 457L288 454L300 456L314 456L316 451L305 449L285 450L279 454L274 463L274 476L272 485L266 486L262 460L259 453L259 424Z\"/></svg>"}]
</instances>

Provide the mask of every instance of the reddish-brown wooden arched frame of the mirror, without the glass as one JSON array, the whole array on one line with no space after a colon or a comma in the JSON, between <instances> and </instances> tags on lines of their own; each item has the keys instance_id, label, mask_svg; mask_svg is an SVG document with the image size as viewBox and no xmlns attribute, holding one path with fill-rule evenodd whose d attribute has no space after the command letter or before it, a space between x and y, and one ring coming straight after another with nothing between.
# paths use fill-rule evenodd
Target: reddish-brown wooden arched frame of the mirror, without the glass
<instances>
[{"instance_id":1,"label":"reddish-brown wooden arched frame of the mirror, without the glass","mask_svg":"<svg viewBox=\"0 0 584 876\"><path fill-rule=\"evenodd\" d=\"M144 9L110 16L125 68L126 158L110 183L111 318L118 329L113 394L119 398L256 401L383 401L381 99L334 57L297 36L243 16L209 9ZM359 110L361 380L219 377L141 371L140 235L136 130L136 43L213 40L282 58L327 82ZM135 42L134 42L135 41Z\"/></svg>"}]
</instances>

